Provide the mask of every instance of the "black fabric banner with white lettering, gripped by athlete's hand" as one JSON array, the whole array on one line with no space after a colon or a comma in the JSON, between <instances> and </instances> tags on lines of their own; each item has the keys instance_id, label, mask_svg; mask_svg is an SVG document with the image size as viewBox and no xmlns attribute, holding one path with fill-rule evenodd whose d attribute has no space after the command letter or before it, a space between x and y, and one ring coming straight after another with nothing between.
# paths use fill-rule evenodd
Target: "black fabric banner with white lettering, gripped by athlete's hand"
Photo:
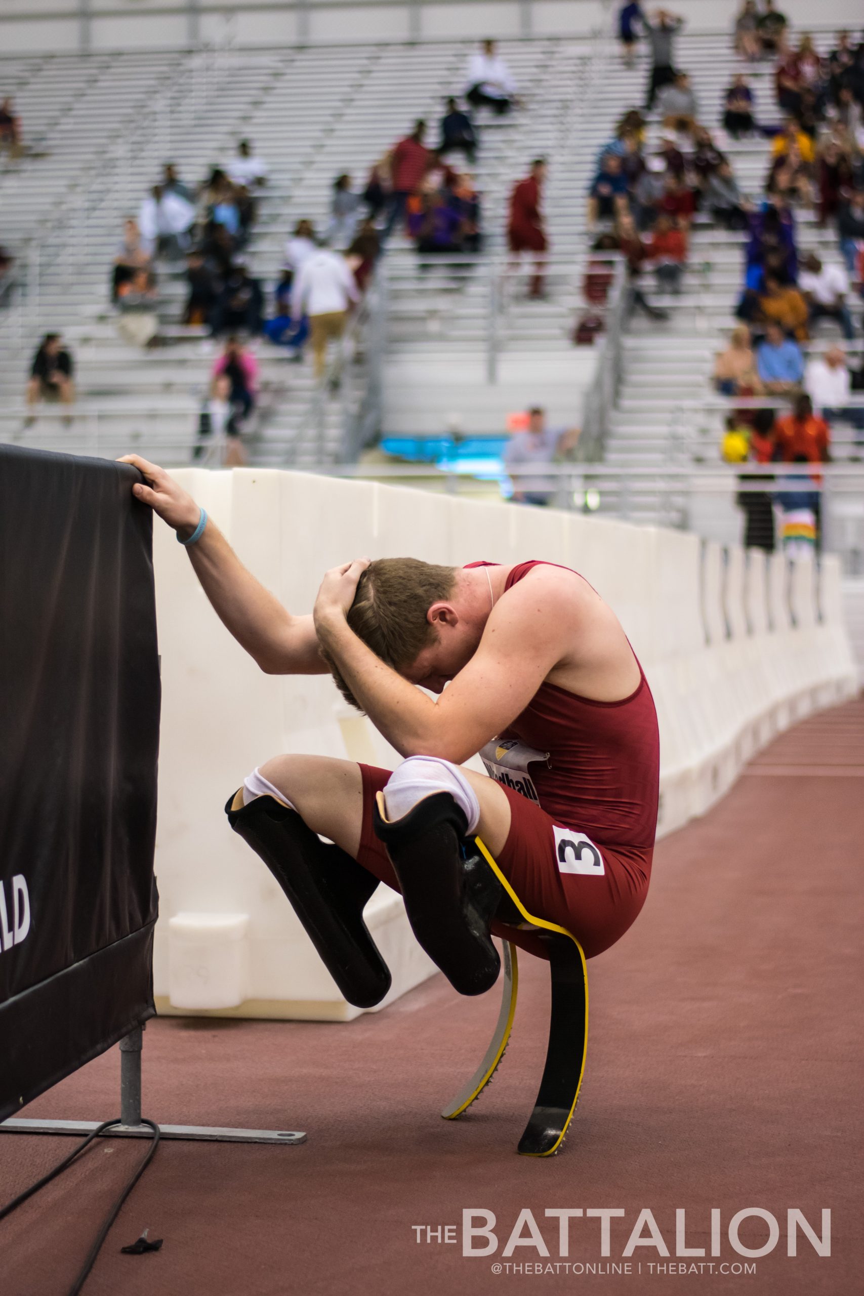
<instances>
[{"instance_id":1,"label":"black fabric banner with white lettering, gripped by athlete's hand","mask_svg":"<svg viewBox=\"0 0 864 1296\"><path fill-rule=\"evenodd\" d=\"M153 515L0 446L0 1120L154 1015Z\"/></svg>"}]
</instances>

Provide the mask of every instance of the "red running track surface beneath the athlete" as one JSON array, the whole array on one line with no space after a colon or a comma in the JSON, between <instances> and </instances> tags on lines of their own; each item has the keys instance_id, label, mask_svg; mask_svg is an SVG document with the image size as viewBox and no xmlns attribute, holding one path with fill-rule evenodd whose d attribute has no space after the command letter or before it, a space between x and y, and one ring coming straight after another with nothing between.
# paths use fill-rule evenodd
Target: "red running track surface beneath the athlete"
<instances>
[{"instance_id":1,"label":"red running track surface beneath the athlete","mask_svg":"<svg viewBox=\"0 0 864 1296\"><path fill-rule=\"evenodd\" d=\"M301 1128L299 1148L163 1144L126 1204L85 1296L284 1296L286 1292L449 1296L589 1290L698 1296L847 1296L861 1290L861 841L864 704L821 713L747 767L703 819L657 849L645 911L589 964L591 1038L582 1098L562 1155L514 1155L544 1054L545 968L522 959L513 1042L461 1121L437 1115L479 1059L497 994L460 999L437 977L348 1026L166 1019L145 1036L145 1113L175 1124ZM118 1052L32 1103L28 1116L117 1115ZM0 1200L70 1148L0 1139ZM0 1223L3 1296L61 1296L142 1144L105 1140ZM574 1220L558 1258L545 1208L618 1208L610 1257L600 1222ZM755 1275L681 1275L649 1264L744 1264L725 1229L759 1207L780 1243ZM497 1217L499 1252L417 1243L412 1225ZM522 1208L557 1273L492 1273ZM574 1277L565 1265L623 1265L650 1208L671 1256L637 1247L641 1273ZM701 1260L676 1260L675 1209ZM786 1210L820 1231L786 1255ZM123 1256L142 1229L158 1255ZM646 1235L648 1230L642 1230ZM767 1225L740 1231L758 1248ZM518 1247L509 1264L538 1264Z\"/></svg>"}]
</instances>

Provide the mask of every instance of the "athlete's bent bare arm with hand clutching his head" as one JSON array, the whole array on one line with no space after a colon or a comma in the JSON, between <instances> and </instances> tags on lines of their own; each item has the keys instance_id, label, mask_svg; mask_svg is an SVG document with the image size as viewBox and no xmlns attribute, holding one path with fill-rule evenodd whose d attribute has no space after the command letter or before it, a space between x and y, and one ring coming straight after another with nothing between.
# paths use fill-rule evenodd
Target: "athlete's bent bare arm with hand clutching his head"
<instances>
[{"instance_id":1,"label":"athlete's bent bare arm with hand clutching his head","mask_svg":"<svg viewBox=\"0 0 864 1296\"><path fill-rule=\"evenodd\" d=\"M433 701L348 626L352 594L347 586L351 578L356 586L356 566L328 573L315 604L315 626L360 706L402 756L438 756L456 765L468 761L525 710L579 639L579 597L562 607L554 577L543 582L543 590L536 581L521 581L490 613L472 660Z\"/></svg>"}]
</instances>

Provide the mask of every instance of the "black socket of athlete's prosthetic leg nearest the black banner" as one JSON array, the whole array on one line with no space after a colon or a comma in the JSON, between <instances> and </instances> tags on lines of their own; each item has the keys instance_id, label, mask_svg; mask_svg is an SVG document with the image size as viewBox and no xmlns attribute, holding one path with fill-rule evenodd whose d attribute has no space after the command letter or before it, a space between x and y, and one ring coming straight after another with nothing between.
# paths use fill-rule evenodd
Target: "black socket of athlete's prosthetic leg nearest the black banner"
<instances>
[{"instance_id":1,"label":"black socket of athlete's prosthetic leg nearest the black banner","mask_svg":"<svg viewBox=\"0 0 864 1296\"><path fill-rule=\"evenodd\" d=\"M225 805L228 823L260 855L288 896L324 966L348 1003L372 1008L390 989L390 971L363 921L378 879L299 814L271 796Z\"/></svg>"}]
</instances>

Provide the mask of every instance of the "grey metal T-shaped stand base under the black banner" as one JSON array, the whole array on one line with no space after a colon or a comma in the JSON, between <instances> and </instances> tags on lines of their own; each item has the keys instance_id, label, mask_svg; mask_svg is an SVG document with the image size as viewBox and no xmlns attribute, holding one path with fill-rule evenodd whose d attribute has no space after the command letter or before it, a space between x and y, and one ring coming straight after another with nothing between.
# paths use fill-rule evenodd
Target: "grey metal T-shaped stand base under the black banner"
<instances>
[{"instance_id":1,"label":"grey metal T-shaped stand base under the black banner","mask_svg":"<svg viewBox=\"0 0 864 1296\"><path fill-rule=\"evenodd\" d=\"M149 1125L141 1125L141 1045L142 1026L136 1026L120 1039L120 1125L105 1135L153 1138ZM0 1122L8 1134L75 1134L87 1135L98 1129L100 1121L35 1121L12 1117ZM159 1125L162 1138L203 1139L209 1143L306 1143L302 1130L234 1130L219 1125Z\"/></svg>"}]
</instances>

